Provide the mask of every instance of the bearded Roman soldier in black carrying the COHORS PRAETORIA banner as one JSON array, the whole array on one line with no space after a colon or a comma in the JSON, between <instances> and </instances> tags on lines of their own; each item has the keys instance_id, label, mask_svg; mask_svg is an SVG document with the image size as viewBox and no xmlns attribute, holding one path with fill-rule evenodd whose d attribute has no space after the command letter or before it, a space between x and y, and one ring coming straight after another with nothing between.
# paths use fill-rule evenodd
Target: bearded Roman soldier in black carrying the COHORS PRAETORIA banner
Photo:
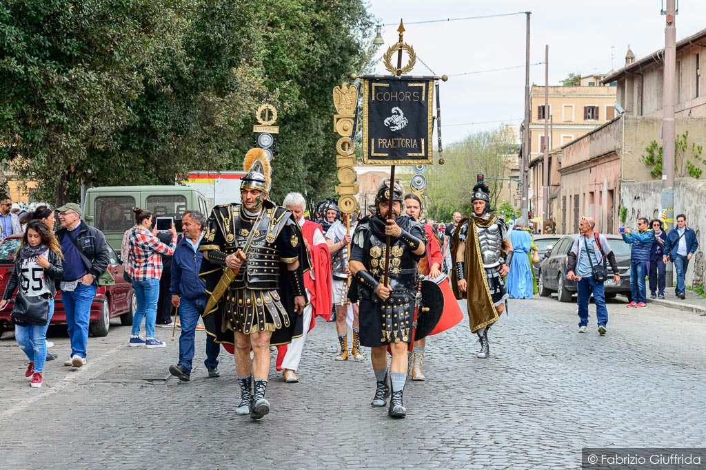
<instances>
[{"instance_id":1,"label":"bearded Roman soldier in black carrying the COHORS PRAETORIA banner","mask_svg":"<svg viewBox=\"0 0 706 470\"><path fill-rule=\"evenodd\" d=\"M392 354L389 381L392 397L388 414L405 417L402 402L407 379L407 349L412 338L414 299L417 293L417 261L424 256L424 227L402 215L402 185L395 182L393 206L390 180L383 180L375 197L375 214L361 218L353 235L349 268L354 282L352 302L360 301L360 342L371 347L376 377L373 407L385 407L388 388L388 346ZM386 255L386 238L390 254ZM388 260L389 258L389 260Z\"/></svg>"}]
</instances>

